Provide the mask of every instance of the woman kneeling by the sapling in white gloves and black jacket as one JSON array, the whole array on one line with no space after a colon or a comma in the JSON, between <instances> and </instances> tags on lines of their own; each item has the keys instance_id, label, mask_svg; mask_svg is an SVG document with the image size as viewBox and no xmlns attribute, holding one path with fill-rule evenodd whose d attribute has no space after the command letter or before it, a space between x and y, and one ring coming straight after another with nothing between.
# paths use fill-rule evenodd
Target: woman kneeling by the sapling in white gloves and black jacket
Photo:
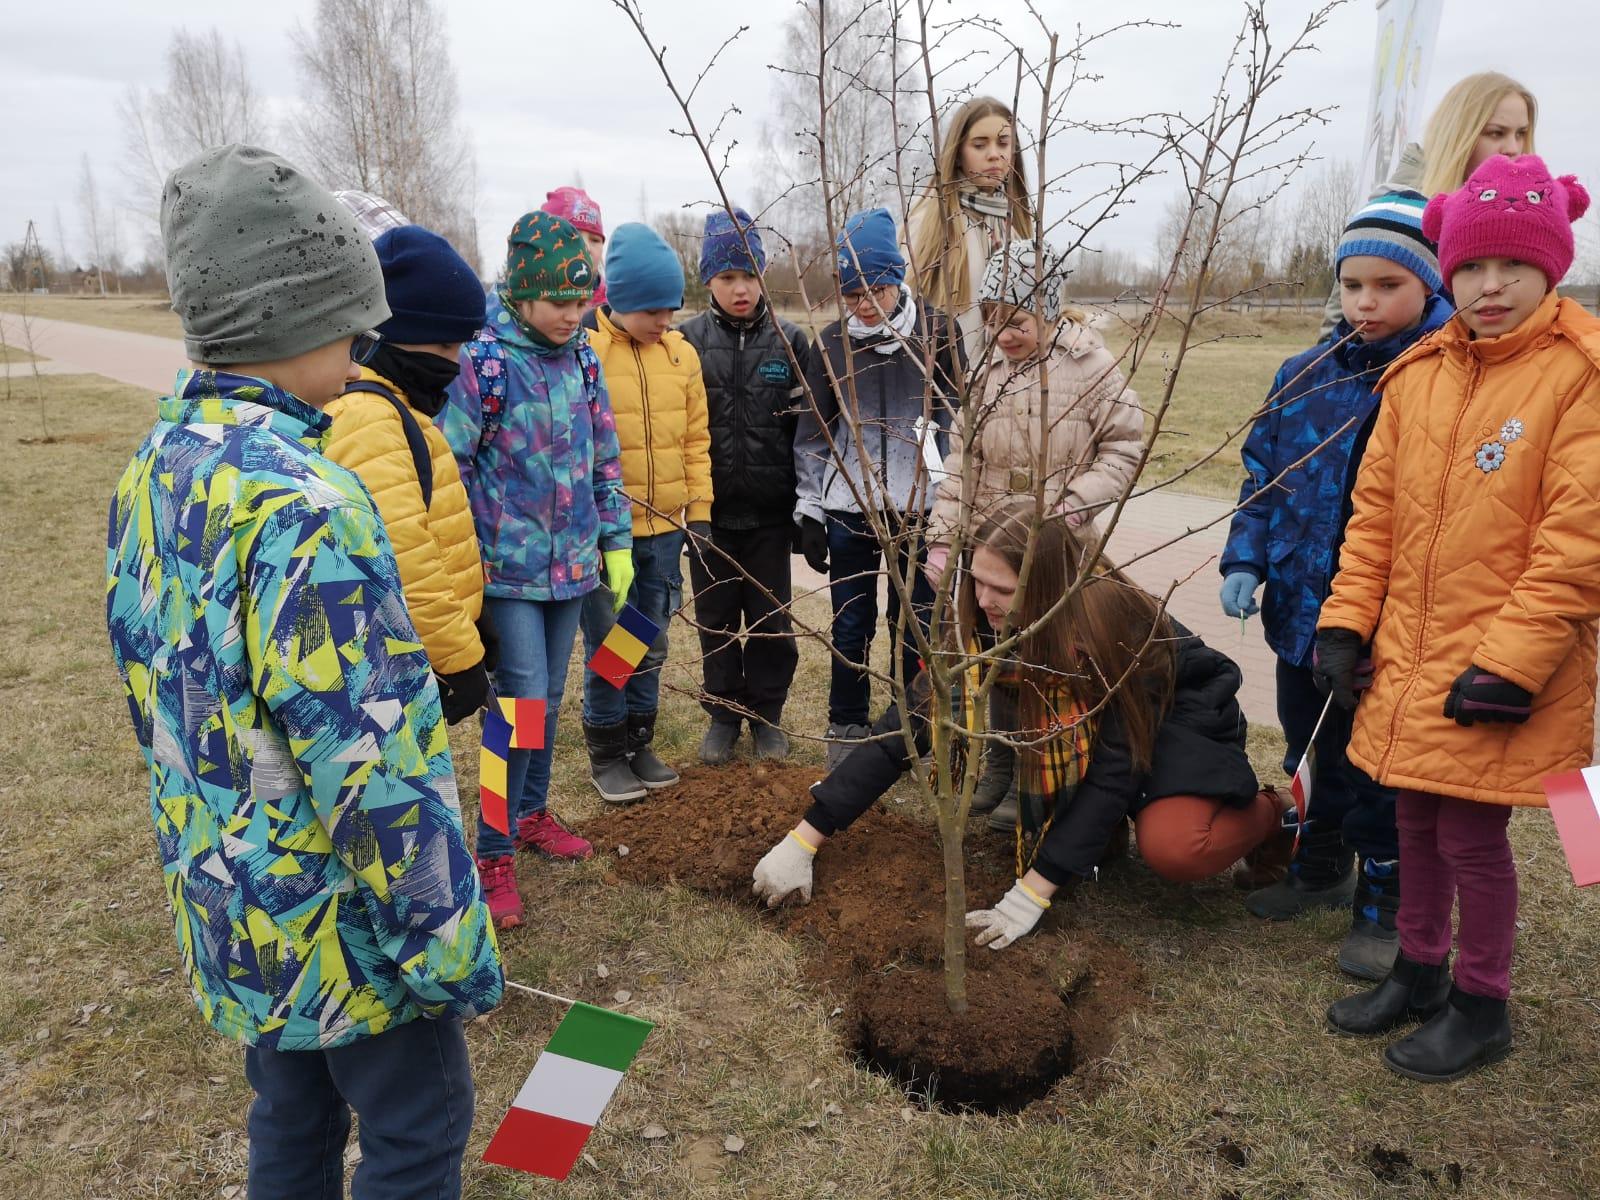
<instances>
[{"instance_id":1,"label":"woman kneeling by the sapling in white gloves and black jacket","mask_svg":"<svg viewBox=\"0 0 1600 1200\"><path fill-rule=\"evenodd\" d=\"M1240 856L1286 858L1283 805L1258 787L1245 757L1238 667L1104 562L1045 618L1083 571L1091 544L1066 522L1046 520L1019 590L1030 514L1029 504L997 512L979 528L971 560L976 606L995 629L1010 616L1011 627L1029 630L997 683L1016 694L1024 726L1013 736L1024 770L1021 878L992 909L966 914L978 942L995 950L1032 930L1059 888L1094 874L1126 816L1139 853L1163 878L1206 878ZM914 730L925 749L922 707ZM805 819L755 866L754 891L770 906L795 894L810 901L818 848L910 765L899 730L891 707L872 730L888 736L862 742L811 787Z\"/></svg>"}]
</instances>

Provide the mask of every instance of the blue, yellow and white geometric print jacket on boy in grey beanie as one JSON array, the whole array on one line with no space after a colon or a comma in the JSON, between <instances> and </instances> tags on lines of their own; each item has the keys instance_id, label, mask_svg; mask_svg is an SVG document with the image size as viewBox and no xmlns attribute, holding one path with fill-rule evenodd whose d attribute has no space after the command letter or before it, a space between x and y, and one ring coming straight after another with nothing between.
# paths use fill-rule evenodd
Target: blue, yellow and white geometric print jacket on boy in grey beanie
<instances>
[{"instance_id":1,"label":"blue, yellow and white geometric print jacket on boy in grey beanie","mask_svg":"<svg viewBox=\"0 0 1600 1200\"><path fill-rule=\"evenodd\" d=\"M117 485L106 618L195 1003L322 1050L499 1003L438 688L328 418L182 371Z\"/></svg>"}]
</instances>

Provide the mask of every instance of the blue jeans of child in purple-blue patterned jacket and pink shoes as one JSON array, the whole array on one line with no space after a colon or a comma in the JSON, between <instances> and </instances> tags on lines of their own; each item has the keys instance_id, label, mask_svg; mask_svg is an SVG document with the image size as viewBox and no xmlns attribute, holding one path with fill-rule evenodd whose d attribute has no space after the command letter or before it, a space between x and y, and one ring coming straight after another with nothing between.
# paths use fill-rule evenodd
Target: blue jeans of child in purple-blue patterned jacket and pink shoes
<instances>
[{"instance_id":1,"label":"blue jeans of child in purple-blue patterned jacket and pink shoes","mask_svg":"<svg viewBox=\"0 0 1600 1200\"><path fill-rule=\"evenodd\" d=\"M483 603L501 640L494 693L507 699L544 698L544 749L512 750L506 755L506 816L515 834L518 818L544 811L544 798L550 790L555 718L562 710L562 693L566 691L566 664L573 658L578 614L584 602L486 595ZM478 858L501 858L514 850L510 837L478 818Z\"/></svg>"}]
</instances>

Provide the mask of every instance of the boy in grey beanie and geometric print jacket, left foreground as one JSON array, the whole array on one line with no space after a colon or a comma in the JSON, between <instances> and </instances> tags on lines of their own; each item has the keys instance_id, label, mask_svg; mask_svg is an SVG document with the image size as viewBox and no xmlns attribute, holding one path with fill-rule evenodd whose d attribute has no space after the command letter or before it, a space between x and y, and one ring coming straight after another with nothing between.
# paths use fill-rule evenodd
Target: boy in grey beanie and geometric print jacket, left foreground
<instances>
[{"instance_id":1,"label":"boy in grey beanie and geometric print jacket, left foreground","mask_svg":"<svg viewBox=\"0 0 1600 1200\"><path fill-rule=\"evenodd\" d=\"M243 1042L250 1194L456 1197L501 963L438 686L322 411L387 320L326 190L251 146L162 195L190 370L117 483L106 618L184 974ZM352 349L354 344L354 349Z\"/></svg>"}]
</instances>

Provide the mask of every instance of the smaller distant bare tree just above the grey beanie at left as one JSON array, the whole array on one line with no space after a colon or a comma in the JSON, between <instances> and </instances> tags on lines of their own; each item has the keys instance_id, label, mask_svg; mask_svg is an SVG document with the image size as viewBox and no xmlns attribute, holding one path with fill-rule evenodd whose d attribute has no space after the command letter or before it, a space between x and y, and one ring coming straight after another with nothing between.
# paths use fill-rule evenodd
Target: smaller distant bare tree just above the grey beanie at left
<instances>
[{"instance_id":1,"label":"smaller distant bare tree just above the grey beanie at left","mask_svg":"<svg viewBox=\"0 0 1600 1200\"><path fill-rule=\"evenodd\" d=\"M208 29L179 29L166 45L166 85L130 86L117 101L128 181L128 208L157 219L162 184L174 166L208 146L259 142L266 136L261 96L238 42Z\"/></svg>"}]
</instances>

